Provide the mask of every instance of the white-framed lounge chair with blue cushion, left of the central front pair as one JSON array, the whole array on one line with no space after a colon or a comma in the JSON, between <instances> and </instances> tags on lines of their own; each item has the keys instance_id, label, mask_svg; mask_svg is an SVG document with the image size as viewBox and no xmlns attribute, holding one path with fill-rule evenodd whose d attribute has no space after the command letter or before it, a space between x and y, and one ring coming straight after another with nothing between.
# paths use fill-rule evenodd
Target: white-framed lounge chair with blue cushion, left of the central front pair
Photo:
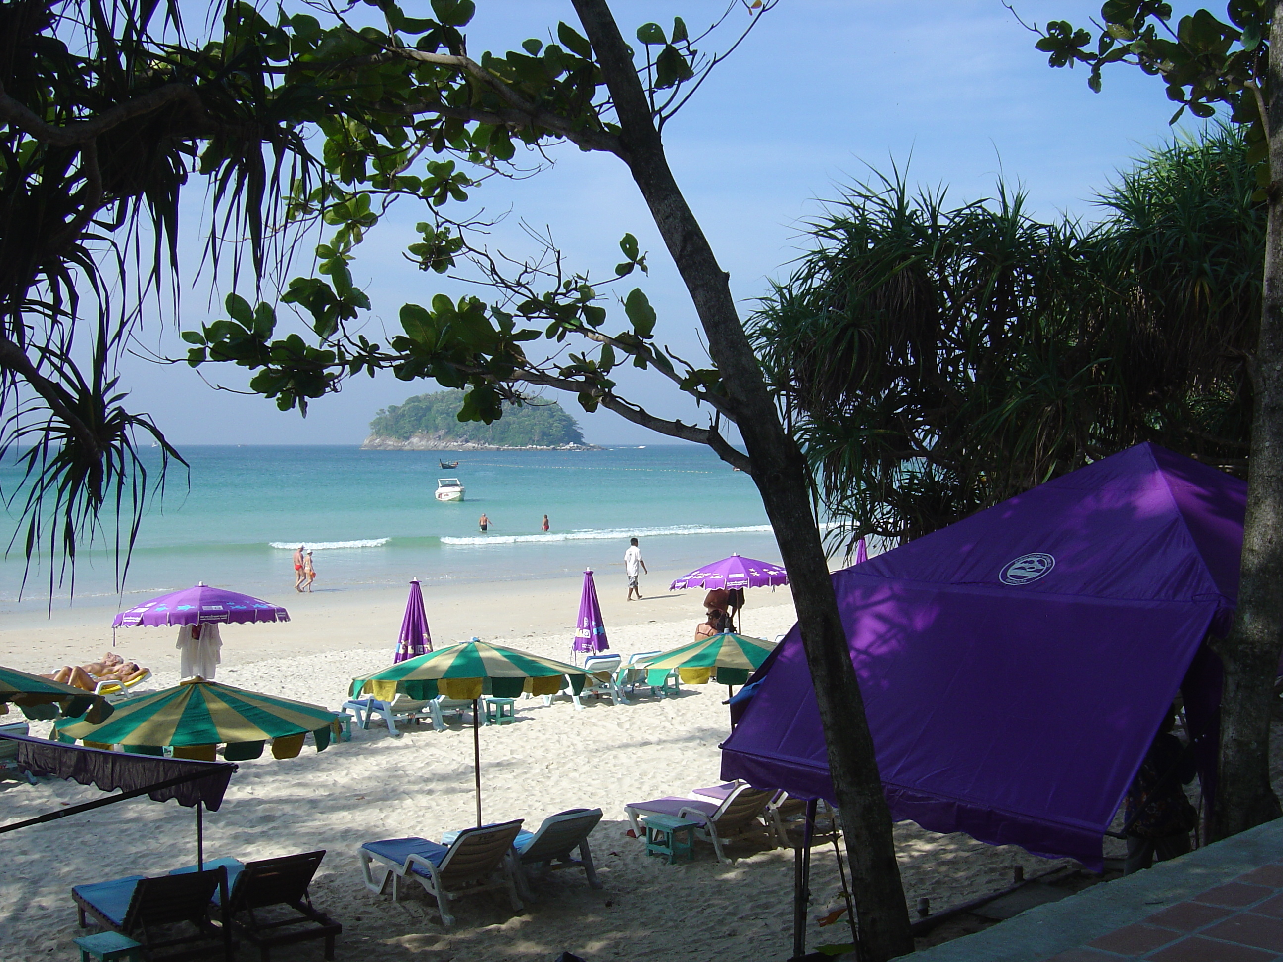
<instances>
[{"instance_id":1,"label":"white-framed lounge chair with blue cushion, left of the central front pair","mask_svg":"<svg viewBox=\"0 0 1283 962\"><path fill-rule=\"evenodd\" d=\"M357 856L366 888L382 894L387 880L393 881L393 902L400 899L400 880L409 879L422 885L436 898L441 912L441 925L454 925L450 900L477 891L506 890L514 911L521 911L517 895L517 867L512 845L521 832L521 820L500 825L482 825L464 829L449 847L427 839L387 839L367 841ZM377 882L370 866L378 862L385 867Z\"/></svg>"}]
</instances>

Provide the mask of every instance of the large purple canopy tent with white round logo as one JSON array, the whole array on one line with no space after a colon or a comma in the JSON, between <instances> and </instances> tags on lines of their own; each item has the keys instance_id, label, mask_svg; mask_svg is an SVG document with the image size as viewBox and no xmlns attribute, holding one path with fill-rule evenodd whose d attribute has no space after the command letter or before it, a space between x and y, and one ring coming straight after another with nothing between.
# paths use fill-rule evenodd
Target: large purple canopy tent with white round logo
<instances>
[{"instance_id":1,"label":"large purple canopy tent with white round logo","mask_svg":"<svg viewBox=\"0 0 1283 962\"><path fill-rule=\"evenodd\" d=\"M893 817L1098 870L1183 680L1210 797L1246 494L1144 444L837 572ZM754 680L722 777L833 802L795 626Z\"/></svg>"}]
</instances>

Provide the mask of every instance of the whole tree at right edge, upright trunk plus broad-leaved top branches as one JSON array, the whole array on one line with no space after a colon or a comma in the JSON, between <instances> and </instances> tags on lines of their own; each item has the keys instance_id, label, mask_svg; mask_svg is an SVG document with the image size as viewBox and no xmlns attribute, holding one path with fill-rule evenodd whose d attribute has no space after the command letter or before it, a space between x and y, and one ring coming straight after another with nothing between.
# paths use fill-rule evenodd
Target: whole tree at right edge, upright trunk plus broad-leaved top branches
<instances>
[{"instance_id":1,"label":"whole tree at right edge, upright trunk plus broad-leaved top branches","mask_svg":"<svg viewBox=\"0 0 1283 962\"><path fill-rule=\"evenodd\" d=\"M1100 92L1106 68L1141 69L1184 112L1218 109L1242 124L1265 204L1261 309L1246 354L1251 387L1247 518L1238 612L1214 648L1224 666L1215 832L1233 835L1280 813L1270 788L1274 676L1283 650L1283 0L1229 0L1174 18L1162 0L1109 0L1100 33L1052 21L1037 41L1052 67L1083 64Z\"/></svg>"}]
</instances>

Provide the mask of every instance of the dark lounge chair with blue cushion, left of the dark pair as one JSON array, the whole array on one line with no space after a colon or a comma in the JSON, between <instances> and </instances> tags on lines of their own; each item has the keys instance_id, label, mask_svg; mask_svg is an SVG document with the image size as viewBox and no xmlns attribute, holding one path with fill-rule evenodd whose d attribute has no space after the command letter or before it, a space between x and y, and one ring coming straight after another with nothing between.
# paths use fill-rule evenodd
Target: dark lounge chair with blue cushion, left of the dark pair
<instances>
[{"instance_id":1,"label":"dark lounge chair with blue cushion, left of the dark pair","mask_svg":"<svg viewBox=\"0 0 1283 962\"><path fill-rule=\"evenodd\" d=\"M203 872L155 879L131 875L76 885L72 898L81 929L87 926L86 917L92 916L104 929L141 943L148 958L158 949L167 949L166 959L208 956L219 949L227 962L234 958L236 945L227 925L227 911L210 912L210 902L227 906L227 867L223 865ZM210 915L218 915L221 924L210 922ZM194 927L195 932L176 935L173 926L182 925Z\"/></svg>"}]
</instances>

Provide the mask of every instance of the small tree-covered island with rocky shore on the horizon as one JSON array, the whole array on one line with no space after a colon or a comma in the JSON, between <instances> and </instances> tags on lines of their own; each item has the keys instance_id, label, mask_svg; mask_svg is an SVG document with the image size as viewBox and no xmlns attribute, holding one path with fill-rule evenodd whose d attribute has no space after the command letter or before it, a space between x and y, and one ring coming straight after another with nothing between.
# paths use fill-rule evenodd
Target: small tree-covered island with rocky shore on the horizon
<instances>
[{"instance_id":1,"label":"small tree-covered island with rocky shore on the horizon","mask_svg":"<svg viewBox=\"0 0 1283 962\"><path fill-rule=\"evenodd\" d=\"M362 450L499 451L600 450L584 444L579 423L556 401L504 405L493 425L459 421L463 391L435 391L382 408Z\"/></svg>"}]
</instances>

